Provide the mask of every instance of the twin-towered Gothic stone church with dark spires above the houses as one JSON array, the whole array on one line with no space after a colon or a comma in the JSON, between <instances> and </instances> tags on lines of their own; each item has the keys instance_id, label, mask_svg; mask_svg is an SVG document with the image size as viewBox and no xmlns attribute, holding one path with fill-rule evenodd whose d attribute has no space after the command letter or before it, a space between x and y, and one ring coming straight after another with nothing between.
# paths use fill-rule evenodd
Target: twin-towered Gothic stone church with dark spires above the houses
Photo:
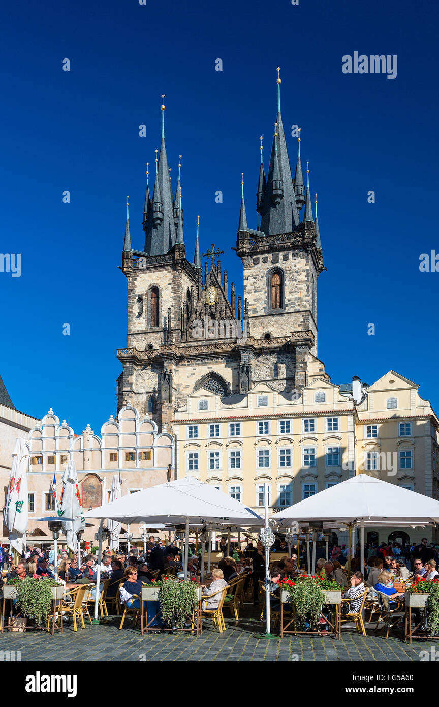
<instances>
[{"instance_id":1,"label":"twin-towered Gothic stone church with dark spires above the houses","mask_svg":"<svg viewBox=\"0 0 439 707\"><path fill-rule=\"evenodd\" d=\"M180 165L179 165L180 168ZM147 173L148 174L148 173ZM236 255L243 263L243 298L229 285L215 245L203 254L198 233L186 252L180 169L172 189L164 139L155 158L155 185L145 195L145 245L131 243L128 219L121 269L128 282L128 341L117 352L123 372L117 409L131 400L140 413L167 426L191 392L246 395L270 382L293 397L313 380L328 379L317 351L317 281L323 271L317 215L303 183L300 157L294 179L280 110L267 174L262 159L258 229L248 228L241 198ZM300 216L300 211L303 211ZM260 225L259 225L260 222Z\"/></svg>"}]
</instances>

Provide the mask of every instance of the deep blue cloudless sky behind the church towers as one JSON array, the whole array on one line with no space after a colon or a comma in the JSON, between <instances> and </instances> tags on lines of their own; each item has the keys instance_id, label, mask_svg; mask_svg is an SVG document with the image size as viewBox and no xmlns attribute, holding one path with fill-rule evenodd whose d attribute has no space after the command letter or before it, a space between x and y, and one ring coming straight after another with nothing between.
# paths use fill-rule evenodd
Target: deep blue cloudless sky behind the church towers
<instances>
[{"instance_id":1,"label":"deep blue cloudless sky behind the church towers","mask_svg":"<svg viewBox=\"0 0 439 707\"><path fill-rule=\"evenodd\" d=\"M200 214L202 252L220 245L222 269L241 291L241 261L230 250L241 172L255 228L259 136L267 162L280 66L284 127L287 135L301 127L318 192L327 267L318 281L319 357L333 382L359 375L372 383L392 368L438 410L439 273L419 271L421 253L439 252L437 8L425 0L146 1L49 0L3 11L0 250L21 253L22 274L0 272L0 375L16 407L37 417L52 407L77 433L88 422L99 431L116 412L126 194L133 247L142 250L145 163L153 172L162 93L174 187L183 155L186 252L192 259ZM397 78L343 74L342 57L356 51L397 55ZM62 70L65 58L71 71ZM287 140L294 170L297 141Z\"/></svg>"}]
</instances>

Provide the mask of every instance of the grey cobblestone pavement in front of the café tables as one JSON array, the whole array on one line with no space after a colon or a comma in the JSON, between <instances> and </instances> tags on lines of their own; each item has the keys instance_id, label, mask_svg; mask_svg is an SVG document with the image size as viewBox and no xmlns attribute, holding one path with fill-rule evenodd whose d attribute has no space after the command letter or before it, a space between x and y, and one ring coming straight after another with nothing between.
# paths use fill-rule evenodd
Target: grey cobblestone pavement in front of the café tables
<instances>
[{"instance_id":1,"label":"grey cobblestone pavement in front of the caf\u00e9 tables","mask_svg":"<svg viewBox=\"0 0 439 707\"><path fill-rule=\"evenodd\" d=\"M247 614L247 616L246 616ZM251 617L253 615L253 618ZM150 633L140 636L133 629L131 617L119 631L120 617L109 617L99 626L85 624L85 629L73 632L73 626L64 627L64 633L49 636L46 631L13 633L0 636L1 650L20 650L22 661L346 661L346 662L411 662L420 660L421 650L430 650L434 641L400 641L398 636L387 639L375 635L372 627L368 636L359 636L354 629L342 629L342 640L318 636L285 636L282 641L258 638L265 630L253 607L247 607L237 623L225 618L226 631L212 629L210 620L203 622L203 634L198 638L189 633ZM8 660L8 655L3 660Z\"/></svg>"}]
</instances>

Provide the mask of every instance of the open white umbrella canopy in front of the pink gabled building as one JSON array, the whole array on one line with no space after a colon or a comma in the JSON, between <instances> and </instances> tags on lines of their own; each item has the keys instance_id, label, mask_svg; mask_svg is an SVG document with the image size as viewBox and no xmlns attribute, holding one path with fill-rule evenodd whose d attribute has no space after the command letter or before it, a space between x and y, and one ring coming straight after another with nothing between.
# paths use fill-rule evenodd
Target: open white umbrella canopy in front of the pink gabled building
<instances>
[{"instance_id":1,"label":"open white umbrella canopy in front of the pink gabled building","mask_svg":"<svg viewBox=\"0 0 439 707\"><path fill-rule=\"evenodd\" d=\"M155 523L181 525L186 520L202 524L203 521L220 525L263 525L263 518L197 479L184 478L151 486L118 501L106 503L85 513L85 518L109 518L124 523Z\"/></svg>"}]
</instances>

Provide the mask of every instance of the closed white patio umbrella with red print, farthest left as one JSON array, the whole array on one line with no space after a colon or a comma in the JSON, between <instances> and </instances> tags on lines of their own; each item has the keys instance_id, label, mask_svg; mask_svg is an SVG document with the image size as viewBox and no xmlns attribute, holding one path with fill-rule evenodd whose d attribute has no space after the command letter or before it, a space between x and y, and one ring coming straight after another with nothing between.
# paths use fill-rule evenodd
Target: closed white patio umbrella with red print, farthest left
<instances>
[{"instance_id":1,"label":"closed white patio umbrella with red print, farthest left","mask_svg":"<svg viewBox=\"0 0 439 707\"><path fill-rule=\"evenodd\" d=\"M29 450L23 437L19 437L12 452L11 474L3 518L8 528L9 550L11 551L13 547L20 555L23 554L29 518L28 464Z\"/></svg>"}]
</instances>

